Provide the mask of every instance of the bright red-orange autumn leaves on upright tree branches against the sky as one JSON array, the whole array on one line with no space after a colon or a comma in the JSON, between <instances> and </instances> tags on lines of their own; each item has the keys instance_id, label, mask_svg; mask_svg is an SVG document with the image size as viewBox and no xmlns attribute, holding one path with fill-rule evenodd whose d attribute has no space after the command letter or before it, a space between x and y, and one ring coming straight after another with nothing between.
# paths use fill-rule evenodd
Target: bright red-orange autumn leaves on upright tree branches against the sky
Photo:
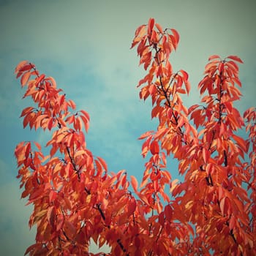
<instances>
[{"instance_id":1,"label":"bright red-orange autumn leaves on upright tree branches against the sky","mask_svg":"<svg viewBox=\"0 0 256 256\"><path fill-rule=\"evenodd\" d=\"M18 64L24 97L37 104L22 111L24 128L52 131L48 156L36 142L15 148L22 197L34 206L29 226L37 225L26 254L92 255L91 239L107 243L109 255L256 253L256 113L249 108L241 116L233 106L241 97L242 61L211 56L198 85L200 105L186 108L181 94L189 94L189 76L173 72L169 61L178 41L175 29L150 18L132 42L147 71L140 99L151 97L151 116L159 121L156 131L140 136L142 155L149 154L140 184L124 170L109 173L105 160L94 157L84 133L89 114L76 110L53 78L28 61ZM247 140L238 136L241 129ZM172 179L169 155L184 181Z\"/></svg>"}]
</instances>

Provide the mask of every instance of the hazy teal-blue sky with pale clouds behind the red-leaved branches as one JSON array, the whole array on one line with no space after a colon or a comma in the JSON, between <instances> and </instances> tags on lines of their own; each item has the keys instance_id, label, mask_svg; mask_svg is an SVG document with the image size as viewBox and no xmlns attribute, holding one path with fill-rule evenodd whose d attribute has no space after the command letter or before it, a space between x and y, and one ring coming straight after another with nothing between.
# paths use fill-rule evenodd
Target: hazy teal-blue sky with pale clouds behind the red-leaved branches
<instances>
[{"instance_id":1,"label":"hazy teal-blue sky with pale clouds behind the red-leaved branches","mask_svg":"<svg viewBox=\"0 0 256 256\"><path fill-rule=\"evenodd\" d=\"M91 116L88 148L103 157L111 171L125 169L140 177L145 159L138 137L154 129L151 102L140 101L138 80L146 74L130 50L135 29L148 18L180 34L174 70L189 73L189 107L199 100L197 84L208 56L237 55L244 97L236 108L255 106L256 2L254 0L159 1L9 1L0 0L0 248L1 255L23 255L34 244L29 231L31 207L20 200L15 146L23 140L42 145L48 132L23 129L21 110L31 105L13 71L22 60L55 78L59 88ZM176 162L168 167L178 177ZM95 246L91 252L96 252Z\"/></svg>"}]
</instances>

